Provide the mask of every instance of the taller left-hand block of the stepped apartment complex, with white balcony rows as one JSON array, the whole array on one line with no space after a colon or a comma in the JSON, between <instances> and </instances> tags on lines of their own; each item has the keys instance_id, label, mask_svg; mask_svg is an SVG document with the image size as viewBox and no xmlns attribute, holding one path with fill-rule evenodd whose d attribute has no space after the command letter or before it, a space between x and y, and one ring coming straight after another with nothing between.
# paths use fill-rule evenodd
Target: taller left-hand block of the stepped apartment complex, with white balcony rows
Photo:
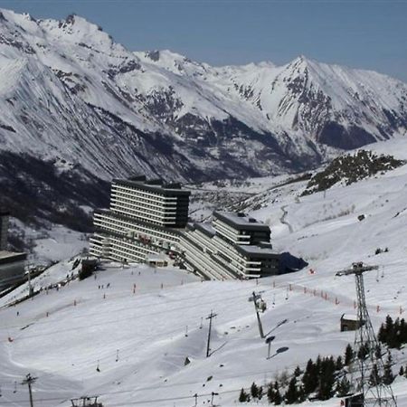
<instances>
[{"instance_id":1,"label":"taller left-hand block of the stepped apartment complex, with white balcony rows","mask_svg":"<svg viewBox=\"0 0 407 407\"><path fill-rule=\"evenodd\" d=\"M114 179L109 210L94 212L95 233L90 253L119 261L146 261L148 256L175 251L180 229L188 221L190 192L179 184Z\"/></svg>"}]
</instances>

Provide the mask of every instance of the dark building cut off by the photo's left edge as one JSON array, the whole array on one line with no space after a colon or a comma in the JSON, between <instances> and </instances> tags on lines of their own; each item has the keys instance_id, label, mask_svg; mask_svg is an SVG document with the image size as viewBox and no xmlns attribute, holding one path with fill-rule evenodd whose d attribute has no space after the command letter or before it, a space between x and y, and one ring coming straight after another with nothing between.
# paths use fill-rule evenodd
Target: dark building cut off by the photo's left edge
<instances>
[{"instance_id":1,"label":"dark building cut off by the photo's left edge","mask_svg":"<svg viewBox=\"0 0 407 407\"><path fill-rule=\"evenodd\" d=\"M24 279L26 253L7 251L10 213L0 209L0 292Z\"/></svg>"}]
</instances>

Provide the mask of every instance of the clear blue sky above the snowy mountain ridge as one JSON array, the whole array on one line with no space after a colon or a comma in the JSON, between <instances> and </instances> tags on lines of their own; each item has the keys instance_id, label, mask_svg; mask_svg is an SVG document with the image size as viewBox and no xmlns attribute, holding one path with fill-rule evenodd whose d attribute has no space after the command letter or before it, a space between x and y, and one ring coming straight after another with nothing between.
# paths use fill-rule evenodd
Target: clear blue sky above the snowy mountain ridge
<instances>
[{"instance_id":1,"label":"clear blue sky above the snowy mountain ridge","mask_svg":"<svg viewBox=\"0 0 407 407\"><path fill-rule=\"evenodd\" d=\"M407 0L0 0L34 18L76 13L132 51L213 65L300 54L407 81Z\"/></svg>"}]
</instances>

